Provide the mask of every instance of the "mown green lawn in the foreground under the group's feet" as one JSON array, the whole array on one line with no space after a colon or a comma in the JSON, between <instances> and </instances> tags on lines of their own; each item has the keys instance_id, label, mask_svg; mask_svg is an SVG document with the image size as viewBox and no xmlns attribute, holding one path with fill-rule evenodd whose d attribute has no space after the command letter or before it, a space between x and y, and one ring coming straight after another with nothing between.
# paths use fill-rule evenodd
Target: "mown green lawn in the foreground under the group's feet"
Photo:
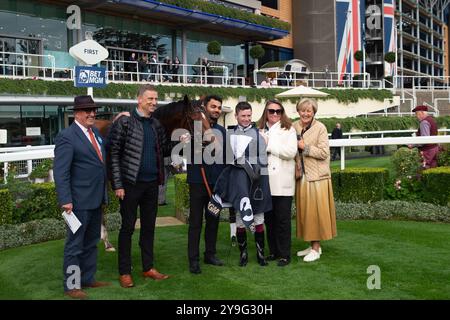
<instances>
[{"instance_id":1,"label":"mown green lawn in the foreground under the group's feet","mask_svg":"<svg viewBox=\"0 0 450 320\"><path fill-rule=\"evenodd\" d=\"M242 268L237 266L238 248L230 245L228 224L221 223L217 249L226 265L202 263L203 273L193 275L188 271L187 226L159 227L155 267L171 278L155 282L141 277L135 234L136 287L119 286L117 253L105 252L101 244L97 279L112 286L89 289L88 294L90 299L450 299L449 234L449 224L339 221L338 236L323 243L317 262L298 259L295 252L306 244L294 239L290 265L260 267L250 239L250 261ZM111 240L117 245L117 233ZM63 246L59 240L0 252L0 299L66 299ZM367 289L371 265L381 269L380 290Z\"/></svg>"}]
</instances>

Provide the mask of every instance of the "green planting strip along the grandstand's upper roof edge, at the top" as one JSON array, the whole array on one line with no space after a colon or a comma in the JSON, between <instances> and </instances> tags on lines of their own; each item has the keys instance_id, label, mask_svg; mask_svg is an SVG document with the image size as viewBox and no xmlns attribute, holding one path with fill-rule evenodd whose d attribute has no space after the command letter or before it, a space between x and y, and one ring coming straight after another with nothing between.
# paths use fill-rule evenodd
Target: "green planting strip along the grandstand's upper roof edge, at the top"
<instances>
[{"instance_id":1,"label":"green planting strip along the grandstand's upper roof edge, at the top","mask_svg":"<svg viewBox=\"0 0 450 320\"><path fill-rule=\"evenodd\" d=\"M217 14L227 18L247 21L254 24L259 24L266 27L281 29L289 31L291 25L288 22L278 19L270 18L263 15L256 15L251 12L242 11L239 9L225 7L223 5L215 4L203 0L160 0L160 2L168 3L177 7L193 9L202 12Z\"/></svg>"}]
</instances>

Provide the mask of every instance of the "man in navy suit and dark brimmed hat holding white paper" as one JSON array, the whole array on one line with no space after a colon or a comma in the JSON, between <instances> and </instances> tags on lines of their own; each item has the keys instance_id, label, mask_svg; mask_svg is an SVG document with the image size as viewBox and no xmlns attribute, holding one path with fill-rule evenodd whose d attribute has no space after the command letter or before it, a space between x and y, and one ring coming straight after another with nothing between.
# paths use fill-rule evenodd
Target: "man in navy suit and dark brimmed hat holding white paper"
<instances>
[{"instance_id":1,"label":"man in navy suit and dark brimmed hat holding white paper","mask_svg":"<svg viewBox=\"0 0 450 320\"><path fill-rule=\"evenodd\" d=\"M75 97L75 121L55 140L58 202L66 213L75 214L81 222L75 234L67 229L64 246L64 292L75 299L87 297L82 287L109 285L95 280L101 206L106 202L106 153L94 127L97 108L91 96Z\"/></svg>"}]
</instances>

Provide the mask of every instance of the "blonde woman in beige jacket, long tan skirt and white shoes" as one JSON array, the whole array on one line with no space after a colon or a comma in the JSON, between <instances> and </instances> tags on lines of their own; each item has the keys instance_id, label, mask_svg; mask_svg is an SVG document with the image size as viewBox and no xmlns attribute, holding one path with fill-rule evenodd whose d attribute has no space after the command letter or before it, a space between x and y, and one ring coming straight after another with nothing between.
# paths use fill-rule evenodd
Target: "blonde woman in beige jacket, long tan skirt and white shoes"
<instances>
[{"instance_id":1,"label":"blonde woman in beige jacket, long tan skirt and white shoes","mask_svg":"<svg viewBox=\"0 0 450 320\"><path fill-rule=\"evenodd\" d=\"M304 261L320 259L321 240L336 236L336 210L330 173L330 147L326 127L314 119L317 102L303 99L297 103L300 120L294 123L298 150L296 165L301 177L296 182L297 238L311 246L297 252Z\"/></svg>"}]
</instances>

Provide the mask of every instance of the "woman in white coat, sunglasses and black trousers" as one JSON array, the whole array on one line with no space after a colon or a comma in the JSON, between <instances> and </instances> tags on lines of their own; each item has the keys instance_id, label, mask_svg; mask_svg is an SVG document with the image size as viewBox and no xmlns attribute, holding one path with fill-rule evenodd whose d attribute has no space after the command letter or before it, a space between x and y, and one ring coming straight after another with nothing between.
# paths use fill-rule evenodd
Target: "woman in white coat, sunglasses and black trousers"
<instances>
[{"instance_id":1,"label":"woman in white coat, sunglasses and black trousers","mask_svg":"<svg viewBox=\"0 0 450 320\"><path fill-rule=\"evenodd\" d=\"M270 250L267 260L278 260L278 266L283 267L291 261L291 207L295 194L297 134L283 105L277 100L266 102L258 128L267 142L273 207L264 215Z\"/></svg>"}]
</instances>

